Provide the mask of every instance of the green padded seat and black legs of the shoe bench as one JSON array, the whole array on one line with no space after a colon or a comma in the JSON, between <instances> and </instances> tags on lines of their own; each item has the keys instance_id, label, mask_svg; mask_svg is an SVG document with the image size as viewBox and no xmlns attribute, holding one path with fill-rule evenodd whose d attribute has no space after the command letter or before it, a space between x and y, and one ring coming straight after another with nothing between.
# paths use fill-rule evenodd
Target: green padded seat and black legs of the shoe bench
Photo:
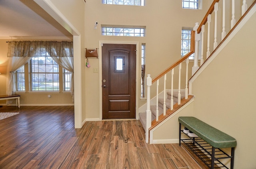
<instances>
[{"instance_id":1,"label":"green padded seat and black legs of the shoe bench","mask_svg":"<svg viewBox=\"0 0 256 169\"><path fill-rule=\"evenodd\" d=\"M208 165L210 169L214 169L214 161L218 158L215 157L215 148L231 148L231 156L227 158L231 159L230 168L233 169L234 166L234 147L236 147L236 139L229 136L228 134L202 122L201 120L195 117L179 117L178 118L180 124L180 141L181 139L181 125L188 128L191 132L196 134L199 138L204 140L206 143L212 146L212 152L209 153L211 155L211 165ZM194 143L196 143L195 138L190 138ZM188 139L185 139L188 140ZM179 142L180 142L179 141ZM183 141L184 142L184 141ZM199 143L200 144L200 143ZM222 151L223 152L223 151ZM203 161L204 162L204 161Z\"/></svg>"}]
</instances>

